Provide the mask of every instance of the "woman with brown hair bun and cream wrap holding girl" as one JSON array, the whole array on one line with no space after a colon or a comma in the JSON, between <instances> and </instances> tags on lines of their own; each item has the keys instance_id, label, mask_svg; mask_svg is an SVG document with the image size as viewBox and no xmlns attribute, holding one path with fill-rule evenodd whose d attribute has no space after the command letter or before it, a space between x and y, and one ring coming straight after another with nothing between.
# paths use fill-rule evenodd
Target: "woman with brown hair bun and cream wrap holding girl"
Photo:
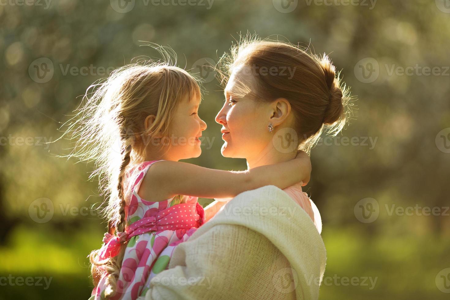
<instances>
[{"instance_id":1,"label":"woman with brown hair bun and cream wrap holding girl","mask_svg":"<svg viewBox=\"0 0 450 300\"><path fill-rule=\"evenodd\" d=\"M245 158L249 169L288 161L309 152L325 127L335 135L345 125L350 97L326 55L250 40L221 63L223 156ZM266 186L213 202L208 208L223 207L175 248L145 299L317 299L326 260L320 216L301 183L286 192Z\"/></svg>"}]
</instances>

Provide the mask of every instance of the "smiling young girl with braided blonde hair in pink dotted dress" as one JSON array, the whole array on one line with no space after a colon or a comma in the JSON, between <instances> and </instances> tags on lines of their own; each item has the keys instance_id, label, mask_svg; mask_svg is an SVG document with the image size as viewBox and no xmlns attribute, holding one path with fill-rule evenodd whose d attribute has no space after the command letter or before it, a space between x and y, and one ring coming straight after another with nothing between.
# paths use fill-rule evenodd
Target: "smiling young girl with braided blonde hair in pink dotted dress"
<instances>
[{"instance_id":1,"label":"smiling young girl with braided blonde hair in pink dotted dress","mask_svg":"<svg viewBox=\"0 0 450 300\"><path fill-rule=\"evenodd\" d=\"M231 198L269 184L287 188L309 180L305 152L246 171L179 162L201 154L199 137L207 127L198 116L199 85L183 69L133 64L91 87L97 89L91 97L86 92L87 103L69 129L80 147L72 156L95 160L91 177L98 175L109 195L103 210L108 233L101 249L89 255L90 299L144 296L173 248L217 211L213 206L206 215L198 197Z\"/></svg>"}]
</instances>

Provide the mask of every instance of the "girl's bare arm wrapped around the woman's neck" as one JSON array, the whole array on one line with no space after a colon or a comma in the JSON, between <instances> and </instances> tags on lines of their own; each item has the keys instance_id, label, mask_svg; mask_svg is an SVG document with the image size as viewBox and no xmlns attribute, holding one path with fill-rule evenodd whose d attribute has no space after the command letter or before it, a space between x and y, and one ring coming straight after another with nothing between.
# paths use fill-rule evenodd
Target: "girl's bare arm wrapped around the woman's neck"
<instances>
[{"instance_id":1,"label":"girl's bare arm wrapped around the woman's neck","mask_svg":"<svg viewBox=\"0 0 450 300\"><path fill-rule=\"evenodd\" d=\"M291 161L259 166L245 171L208 169L180 161L157 161L144 176L142 185L168 197L188 195L202 198L228 198L266 185L287 188L311 175L311 161L299 152Z\"/></svg>"}]
</instances>

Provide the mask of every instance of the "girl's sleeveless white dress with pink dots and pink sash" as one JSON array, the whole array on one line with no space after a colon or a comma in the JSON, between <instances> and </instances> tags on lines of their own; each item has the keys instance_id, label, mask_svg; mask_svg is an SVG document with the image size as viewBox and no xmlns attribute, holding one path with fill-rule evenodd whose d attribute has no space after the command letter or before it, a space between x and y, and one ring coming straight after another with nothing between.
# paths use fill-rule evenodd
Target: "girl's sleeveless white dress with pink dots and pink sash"
<instances>
[{"instance_id":1,"label":"girl's sleeveless white dress with pink dots and pink sash","mask_svg":"<svg viewBox=\"0 0 450 300\"><path fill-rule=\"evenodd\" d=\"M137 194L150 166L145 161L137 166L139 174L131 186L130 204L126 206L125 255L112 300L135 300L144 296L150 280L167 269L176 245L186 241L205 222L198 197L177 195L159 202L145 201ZM104 299L105 276L91 293L90 300Z\"/></svg>"}]
</instances>

